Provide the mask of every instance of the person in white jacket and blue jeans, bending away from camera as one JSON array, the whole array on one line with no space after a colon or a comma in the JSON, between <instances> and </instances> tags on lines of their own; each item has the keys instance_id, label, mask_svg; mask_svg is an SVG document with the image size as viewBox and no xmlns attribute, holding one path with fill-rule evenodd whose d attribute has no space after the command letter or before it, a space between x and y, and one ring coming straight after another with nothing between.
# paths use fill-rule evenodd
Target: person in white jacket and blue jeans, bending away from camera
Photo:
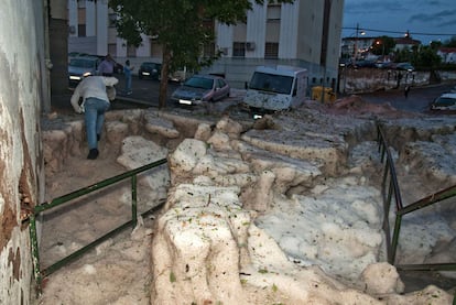
<instances>
[{"instance_id":1,"label":"person in white jacket and blue jeans, bending away from camera","mask_svg":"<svg viewBox=\"0 0 456 305\"><path fill-rule=\"evenodd\" d=\"M75 88L70 102L77 113L84 112L89 154L87 159L98 157L98 141L105 123L105 112L109 109L110 100L116 98L119 83L116 77L88 76ZM82 100L82 101L80 101Z\"/></svg>"}]
</instances>

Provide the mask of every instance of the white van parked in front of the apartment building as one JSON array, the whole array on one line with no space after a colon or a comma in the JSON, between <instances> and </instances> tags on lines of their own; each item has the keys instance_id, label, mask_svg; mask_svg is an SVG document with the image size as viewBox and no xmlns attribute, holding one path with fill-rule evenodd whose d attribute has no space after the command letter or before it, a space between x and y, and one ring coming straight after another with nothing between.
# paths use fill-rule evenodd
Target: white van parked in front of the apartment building
<instances>
[{"instance_id":1,"label":"white van parked in front of the apartment building","mask_svg":"<svg viewBox=\"0 0 456 305\"><path fill-rule=\"evenodd\" d=\"M257 110L289 109L305 100L307 70L292 66L259 66L254 70L243 102Z\"/></svg>"}]
</instances>

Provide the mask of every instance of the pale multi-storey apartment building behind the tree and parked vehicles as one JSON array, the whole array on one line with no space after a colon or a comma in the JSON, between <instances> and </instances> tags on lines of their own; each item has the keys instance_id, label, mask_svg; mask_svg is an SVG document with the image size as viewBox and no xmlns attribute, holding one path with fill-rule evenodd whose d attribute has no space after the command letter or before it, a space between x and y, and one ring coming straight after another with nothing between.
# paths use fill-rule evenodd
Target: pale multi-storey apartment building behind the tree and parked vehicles
<instances>
[{"instance_id":1,"label":"pale multi-storey apartment building behind the tree and parked vehicles","mask_svg":"<svg viewBox=\"0 0 456 305\"><path fill-rule=\"evenodd\" d=\"M203 72L225 75L234 87L243 87L258 65L305 67L310 86L336 88L344 0L295 0L293 4L253 3L247 22L214 22L216 42L205 53L221 57ZM143 35L137 47L117 36L116 15L108 0L68 0L68 52L111 54L119 62L139 65L161 61L161 46Z\"/></svg>"}]
</instances>

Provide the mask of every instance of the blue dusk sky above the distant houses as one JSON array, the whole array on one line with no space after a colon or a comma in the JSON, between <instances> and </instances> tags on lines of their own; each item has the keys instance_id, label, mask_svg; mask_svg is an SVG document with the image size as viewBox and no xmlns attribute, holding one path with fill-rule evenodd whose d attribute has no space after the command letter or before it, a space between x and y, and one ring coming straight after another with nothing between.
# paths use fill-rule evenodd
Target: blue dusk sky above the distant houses
<instances>
[{"instance_id":1,"label":"blue dusk sky above the distant houses","mask_svg":"<svg viewBox=\"0 0 456 305\"><path fill-rule=\"evenodd\" d=\"M361 30L366 36L403 36L430 44L456 36L456 0L345 0L343 37L356 36Z\"/></svg>"}]
</instances>

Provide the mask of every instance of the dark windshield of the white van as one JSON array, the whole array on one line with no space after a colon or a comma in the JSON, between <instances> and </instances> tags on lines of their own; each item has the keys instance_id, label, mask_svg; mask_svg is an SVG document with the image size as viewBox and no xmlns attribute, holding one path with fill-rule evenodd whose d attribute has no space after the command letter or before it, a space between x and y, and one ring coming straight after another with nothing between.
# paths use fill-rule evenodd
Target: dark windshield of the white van
<instances>
[{"instance_id":1,"label":"dark windshield of the white van","mask_svg":"<svg viewBox=\"0 0 456 305\"><path fill-rule=\"evenodd\" d=\"M250 81L249 88L287 95L291 92L292 85L292 76L256 72L252 80Z\"/></svg>"}]
</instances>

